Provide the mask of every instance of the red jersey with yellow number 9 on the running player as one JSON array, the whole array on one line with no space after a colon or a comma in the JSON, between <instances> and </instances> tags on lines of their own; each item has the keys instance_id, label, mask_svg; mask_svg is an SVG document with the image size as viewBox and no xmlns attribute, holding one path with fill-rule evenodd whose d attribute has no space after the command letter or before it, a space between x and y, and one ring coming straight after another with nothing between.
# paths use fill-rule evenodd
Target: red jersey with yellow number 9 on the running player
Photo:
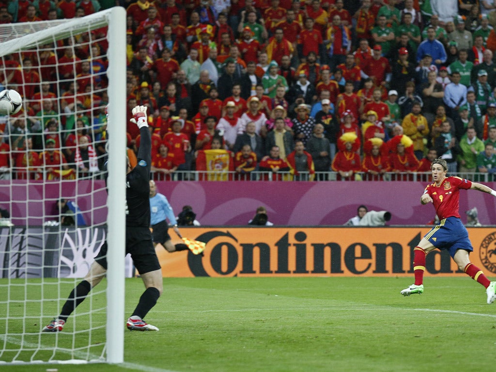
<instances>
[{"instance_id":1,"label":"red jersey with yellow number 9 on the running player","mask_svg":"<svg viewBox=\"0 0 496 372\"><path fill-rule=\"evenodd\" d=\"M472 187L472 181L459 177L446 177L441 185L435 183L428 185L424 193L433 198L434 208L440 220L448 217L460 218L458 213L460 189L468 190Z\"/></svg>"}]
</instances>

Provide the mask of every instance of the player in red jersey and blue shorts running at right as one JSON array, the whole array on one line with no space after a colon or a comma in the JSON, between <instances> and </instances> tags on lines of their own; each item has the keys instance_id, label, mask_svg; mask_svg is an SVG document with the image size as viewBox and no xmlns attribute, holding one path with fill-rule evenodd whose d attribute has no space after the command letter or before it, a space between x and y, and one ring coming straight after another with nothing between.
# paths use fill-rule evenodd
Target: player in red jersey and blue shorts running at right
<instances>
[{"instance_id":1,"label":"player in red jersey and blue shorts running at right","mask_svg":"<svg viewBox=\"0 0 496 372\"><path fill-rule=\"evenodd\" d=\"M469 253L474 250L468 232L458 213L460 190L475 189L496 196L492 188L459 177L446 177L448 165L438 158L431 165L433 183L428 185L420 198L422 204L433 203L439 225L434 226L414 249L413 270L415 283L400 293L403 296L424 292L426 254L437 249L447 249L458 268L486 288L487 303L496 300L496 282L490 282L481 269L470 262Z\"/></svg>"}]
</instances>

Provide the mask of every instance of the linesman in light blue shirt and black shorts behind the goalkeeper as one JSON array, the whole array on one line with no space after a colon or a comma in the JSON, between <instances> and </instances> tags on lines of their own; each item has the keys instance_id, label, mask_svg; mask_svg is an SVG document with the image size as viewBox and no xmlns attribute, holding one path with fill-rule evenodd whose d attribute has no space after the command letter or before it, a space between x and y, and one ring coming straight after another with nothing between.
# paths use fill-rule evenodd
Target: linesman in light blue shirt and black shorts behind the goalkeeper
<instances>
[{"instance_id":1,"label":"linesman in light blue shirt and black shorts behind the goalkeeper","mask_svg":"<svg viewBox=\"0 0 496 372\"><path fill-rule=\"evenodd\" d=\"M173 225L173 229L181 236L178 228L178 222L174 216L171 204L164 194L157 192L155 181L150 180L150 211L151 211L151 226L153 245L161 245L168 252L176 252L189 249L186 244L172 244L171 236L168 233L169 225L167 220ZM167 218L167 220L166 220Z\"/></svg>"}]
</instances>

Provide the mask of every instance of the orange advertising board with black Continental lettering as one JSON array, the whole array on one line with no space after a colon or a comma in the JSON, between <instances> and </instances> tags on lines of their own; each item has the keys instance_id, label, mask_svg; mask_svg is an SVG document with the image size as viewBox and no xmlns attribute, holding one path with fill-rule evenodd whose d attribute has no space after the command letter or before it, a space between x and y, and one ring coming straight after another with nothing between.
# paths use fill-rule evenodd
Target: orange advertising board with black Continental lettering
<instances>
[{"instance_id":1,"label":"orange advertising board with black Continental lettering","mask_svg":"<svg viewBox=\"0 0 496 372\"><path fill-rule=\"evenodd\" d=\"M181 228L206 243L203 255L157 248L164 277L411 276L426 227ZM496 276L496 228L469 228L471 261ZM173 243L180 243L173 239ZM460 275L447 251L427 255L426 276Z\"/></svg>"}]
</instances>

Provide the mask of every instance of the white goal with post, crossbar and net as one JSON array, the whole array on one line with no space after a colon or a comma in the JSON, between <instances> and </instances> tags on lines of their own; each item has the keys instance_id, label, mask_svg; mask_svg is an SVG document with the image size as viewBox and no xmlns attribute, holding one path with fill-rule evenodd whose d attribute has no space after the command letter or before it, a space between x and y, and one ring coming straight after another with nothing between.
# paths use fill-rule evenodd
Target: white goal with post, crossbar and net
<instances>
[{"instance_id":1,"label":"white goal with post, crossbar and net","mask_svg":"<svg viewBox=\"0 0 496 372\"><path fill-rule=\"evenodd\" d=\"M0 366L123 362L125 10L1 25L0 45L23 97L0 116ZM42 332L107 237L107 278Z\"/></svg>"}]
</instances>

